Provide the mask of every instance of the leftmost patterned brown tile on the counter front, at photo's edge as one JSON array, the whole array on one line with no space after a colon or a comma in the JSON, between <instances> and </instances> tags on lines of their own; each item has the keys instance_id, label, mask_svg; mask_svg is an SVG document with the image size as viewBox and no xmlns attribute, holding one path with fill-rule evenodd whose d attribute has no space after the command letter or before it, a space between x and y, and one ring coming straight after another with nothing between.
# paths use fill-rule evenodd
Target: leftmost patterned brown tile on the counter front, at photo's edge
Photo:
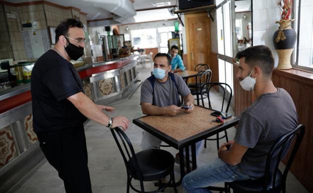
<instances>
[{"instance_id":1,"label":"leftmost patterned brown tile on the counter front, at photo's edge","mask_svg":"<svg viewBox=\"0 0 313 193\"><path fill-rule=\"evenodd\" d=\"M0 130L0 168L18 156L10 127Z\"/></svg>"}]
</instances>

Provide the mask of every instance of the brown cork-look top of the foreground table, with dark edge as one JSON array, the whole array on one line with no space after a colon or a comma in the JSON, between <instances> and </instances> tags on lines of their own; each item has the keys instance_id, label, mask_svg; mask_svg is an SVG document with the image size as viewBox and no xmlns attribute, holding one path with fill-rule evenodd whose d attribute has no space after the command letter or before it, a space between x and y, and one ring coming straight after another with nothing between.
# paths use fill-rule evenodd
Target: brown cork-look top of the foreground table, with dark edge
<instances>
[{"instance_id":1,"label":"brown cork-look top of the foreground table, with dark edge","mask_svg":"<svg viewBox=\"0 0 313 193\"><path fill-rule=\"evenodd\" d=\"M172 141L179 143L187 139L195 139L195 136L209 134L216 129L225 130L239 121L237 117L226 119L224 123L213 122L216 117L211 115L210 109L195 106L192 113L180 113L172 116L144 116L134 119L133 123L144 130L159 135L168 136ZM158 136L156 136L158 137ZM174 140L173 140L174 139ZM167 141L166 141L167 142Z\"/></svg>"}]
</instances>

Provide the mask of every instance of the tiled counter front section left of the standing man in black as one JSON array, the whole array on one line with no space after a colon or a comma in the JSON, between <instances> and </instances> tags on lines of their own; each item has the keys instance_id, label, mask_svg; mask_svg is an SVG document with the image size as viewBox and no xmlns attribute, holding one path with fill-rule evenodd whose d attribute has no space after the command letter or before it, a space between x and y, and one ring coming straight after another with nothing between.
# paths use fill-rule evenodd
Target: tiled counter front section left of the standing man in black
<instances>
[{"instance_id":1,"label":"tiled counter front section left of the standing man in black","mask_svg":"<svg viewBox=\"0 0 313 193\"><path fill-rule=\"evenodd\" d=\"M0 192L8 192L43 158L33 129L32 102L0 114Z\"/></svg>"}]
</instances>

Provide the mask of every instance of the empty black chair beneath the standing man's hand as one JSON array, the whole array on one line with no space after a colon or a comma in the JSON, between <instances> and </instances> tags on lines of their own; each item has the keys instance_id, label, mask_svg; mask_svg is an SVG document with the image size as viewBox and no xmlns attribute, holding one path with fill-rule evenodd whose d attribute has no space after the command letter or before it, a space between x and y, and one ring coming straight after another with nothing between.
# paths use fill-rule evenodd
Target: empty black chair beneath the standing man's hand
<instances>
[{"instance_id":1,"label":"empty black chair beneath the standing man's hand","mask_svg":"<svg viewBox=\"0 0 313 193\"><path fill-rule=\"evenodd\" d=\"M177 193L174 177L174 157L170 152L162 149L148 149L135 153L129 138L122 129L119 127L112 128L111 132L126 166L127 193L129 187L141 193L159 192L170 184L173 185L174 191ZM168 175L170 175L168 184L154 191L144 191L143 181L161 180ZM133 187L131 184L132 179L140 181L141 190Z\"/></svg>"}]
</instances>

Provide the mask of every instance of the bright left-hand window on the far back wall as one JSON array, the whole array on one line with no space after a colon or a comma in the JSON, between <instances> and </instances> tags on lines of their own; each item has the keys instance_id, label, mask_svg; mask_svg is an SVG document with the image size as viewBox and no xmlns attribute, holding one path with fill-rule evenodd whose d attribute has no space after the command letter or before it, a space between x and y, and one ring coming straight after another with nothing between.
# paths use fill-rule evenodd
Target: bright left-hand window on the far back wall
<instances>
[{"instance_id":1,"label":"bright left-hand window on the far back wall","mask_svg":"<svg viewBox=\"0 0 313 193\"><path fill-rule=\"evenodd\" d=\"M156 48L156 29L131 30L131 38L134 48Z\"/></svg>"}]
</instances>

